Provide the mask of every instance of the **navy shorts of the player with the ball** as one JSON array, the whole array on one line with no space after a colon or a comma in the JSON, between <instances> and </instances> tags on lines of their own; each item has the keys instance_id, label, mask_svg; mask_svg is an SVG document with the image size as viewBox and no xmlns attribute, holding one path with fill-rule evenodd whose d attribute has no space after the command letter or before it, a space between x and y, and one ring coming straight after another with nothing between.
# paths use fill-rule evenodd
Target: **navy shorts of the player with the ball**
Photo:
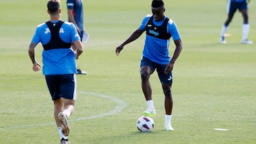
<instances>
[{"instance_id":1,"label":"navy shorts of the player with the ball","mask_svg":"<svg viewBox=\"0 0 256 144\"><path fill-rule=\"evenodd\" d=\"M172 72L170 72L169 74L164 73L166 65L152 62L148 58L142 57L140 67L142 66L149 66L153 72L154 70L156 70L161 83L172 84Z\"/></svg>"}]
</instances>

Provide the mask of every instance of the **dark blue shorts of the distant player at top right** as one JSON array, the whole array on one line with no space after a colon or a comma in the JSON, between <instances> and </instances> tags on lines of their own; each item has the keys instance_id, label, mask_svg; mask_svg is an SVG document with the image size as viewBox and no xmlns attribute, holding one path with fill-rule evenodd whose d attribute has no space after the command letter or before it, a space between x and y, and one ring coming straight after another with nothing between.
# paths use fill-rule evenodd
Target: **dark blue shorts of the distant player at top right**
<instances>
[{"instance_id":1,"label":"dark blue shorts of the distant player at top right","mask_svg":"<svg viewBox=\"0 0 256 144\"><path fill-rule=\"evenodd\" d=\"M239 11L241 11L242 9L248 9L247 2L246 1L242 1L242 2L229 1L228 2L228 7L227 7L228 14L233 15L235 11L237 11L237 9L239 9Z\"/></svg>"}]
</instances>

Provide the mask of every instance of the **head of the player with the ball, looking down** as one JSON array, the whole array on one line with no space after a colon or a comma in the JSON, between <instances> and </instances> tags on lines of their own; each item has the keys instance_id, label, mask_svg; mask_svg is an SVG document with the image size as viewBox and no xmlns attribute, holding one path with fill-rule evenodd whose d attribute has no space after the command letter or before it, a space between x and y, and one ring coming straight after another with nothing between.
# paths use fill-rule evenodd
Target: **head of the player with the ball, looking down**
<instances>
[{"instance_id":1,"label":"head of the player with the ball, looking down","mask_svg":"<svg viewBox=\"0 0 256 144\"><path fill-rule=\"evenodd\" d=\"M161 21L164 18L164 1L153 0L151 3L151 11L156 21Z\"/></svg>"}]
</instances>

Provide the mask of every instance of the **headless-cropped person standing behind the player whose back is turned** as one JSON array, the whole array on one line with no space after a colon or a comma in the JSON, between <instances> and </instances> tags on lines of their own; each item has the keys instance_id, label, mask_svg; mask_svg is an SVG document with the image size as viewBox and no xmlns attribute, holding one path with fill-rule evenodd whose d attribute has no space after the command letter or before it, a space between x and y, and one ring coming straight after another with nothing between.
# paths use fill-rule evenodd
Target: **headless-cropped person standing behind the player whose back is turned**
<instances>
[{"instance_id":1,"label":"headless-cropped person standing behind the player whose back is turned","mask_svg":"<svg viewBox=\"0 0 256 144\"><path fill-rule=\"evenodd\" d=\"M78 30L80 38L87 35L84 30L84 16L82 9L82 0L67 0L68 7L68 21L75 24L75 28ZM76 50L75 45L72 45L73 50ZM86 71L82 71L77 66L77 74L87 74Z\"/></svg>"}]
</instances>

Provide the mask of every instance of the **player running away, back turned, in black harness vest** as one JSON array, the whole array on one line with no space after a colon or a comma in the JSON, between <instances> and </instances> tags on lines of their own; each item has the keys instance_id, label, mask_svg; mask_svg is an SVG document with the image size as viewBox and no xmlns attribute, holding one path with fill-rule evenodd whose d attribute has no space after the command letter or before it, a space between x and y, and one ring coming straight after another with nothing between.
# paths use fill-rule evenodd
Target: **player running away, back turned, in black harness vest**
<instances>
[{"instance_id":1,"label":"player running away, back turned, in black harness vest","mask_svg":"<svg viewBox=\"0 0 256 144\"><path fill-rule=\"evenodd\" d=\"M50 21L38 25L28 47L28 55L33 63L33 70L41 70L35 57L38 43L43 45L43 74L53 100L54 118L60 134L60 143L70 143L68 134L68 118L75 109L76 100L76 67L83 51L80 36L73 23L60 20L60 0L50 0L47 3ZM77 51L71 48L74 44Z\"/></svg>"}]
</instances>

